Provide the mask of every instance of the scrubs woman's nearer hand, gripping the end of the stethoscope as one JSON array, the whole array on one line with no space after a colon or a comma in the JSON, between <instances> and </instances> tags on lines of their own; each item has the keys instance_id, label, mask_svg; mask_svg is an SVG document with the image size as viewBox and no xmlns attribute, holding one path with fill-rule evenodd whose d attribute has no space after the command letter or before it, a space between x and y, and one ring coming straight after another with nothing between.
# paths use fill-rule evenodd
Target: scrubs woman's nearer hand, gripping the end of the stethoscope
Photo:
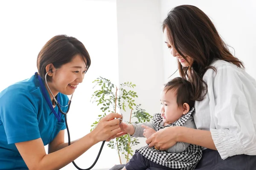
<instances>
[{"instance_id":1,"label":"scrubs woman's nearer hand, gripping the end of the stethoscope","mask_svg":"<svg viewBox=\"0 0 256 170\"><path fill-rule=\"evenodd\" d=\"M109 140L111 137L115 136L116 133L120 132L119 119L121 115L118 113L110 113L103 117L98 125L91 131L93 138L96 142Z\"/></svg>"}]
</instances>

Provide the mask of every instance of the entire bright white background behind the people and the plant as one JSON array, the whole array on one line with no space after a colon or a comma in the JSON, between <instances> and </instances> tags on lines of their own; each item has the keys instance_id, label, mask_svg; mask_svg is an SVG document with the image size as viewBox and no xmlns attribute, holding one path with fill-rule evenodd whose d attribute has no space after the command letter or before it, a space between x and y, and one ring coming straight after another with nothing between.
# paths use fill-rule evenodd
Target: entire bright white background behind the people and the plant
<instances>
[{"instance_id":1,"label":"entire bright white background behind the people and the plant","mask_svg":"<svg viewBox=\"0 0 256 170\"><path fill-rule=\"evenodd\" d=\"M212 19L221 37L244 62L247 72L256 78L254 0L3 0L0 1L0 91L31 77L37 71L38 52L47 40L67 34L84 43L92 60L68 115L71 139L89 133L90 125L100 113L90 103L92 81L99 76L115 84L135 83L134 90L139 95L136 103L153 114L159 111L162 84L177 69L176 59L164 44L161 25L170 9L183 4L201 8ZM128 112L124 113L125 120ZM145 139L140 142L137 147L145 145ZM81 168L90 167L100 145L93 146L76 163ZM116 151L105 144L94 169L108 169L118 163ZM73 164L62 168L71 169L76 169Z\"/></svg>"}]
</instances>

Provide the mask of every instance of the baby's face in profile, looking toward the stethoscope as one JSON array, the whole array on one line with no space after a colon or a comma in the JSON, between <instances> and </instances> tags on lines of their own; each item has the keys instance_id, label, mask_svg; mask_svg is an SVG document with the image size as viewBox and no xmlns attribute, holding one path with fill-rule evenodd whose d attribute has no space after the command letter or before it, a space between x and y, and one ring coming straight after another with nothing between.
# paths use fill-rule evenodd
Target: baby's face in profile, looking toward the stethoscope
<instances>
[{"instance_id":1,"label":"baby's face in profile, looking toward the stethoscope","mask_svg":"<svg viewBox=\"0 0 256 170\"><path fill-rule=\"evenodd\" d=\"M163 117L163 122L171 124L183 115L182 107L178 107L177 98L175 96L175 91L166 89L162 91L161 94L161 115Z\"/></svg>"}]
</instances>

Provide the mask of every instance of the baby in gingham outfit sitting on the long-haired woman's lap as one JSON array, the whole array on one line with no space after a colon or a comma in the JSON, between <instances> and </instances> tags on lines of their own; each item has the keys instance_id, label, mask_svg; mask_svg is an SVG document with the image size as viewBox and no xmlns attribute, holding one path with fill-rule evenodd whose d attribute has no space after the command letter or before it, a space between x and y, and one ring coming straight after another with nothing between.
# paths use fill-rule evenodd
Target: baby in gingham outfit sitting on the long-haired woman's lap
<instances>
[{"instance_id":1,"label":"baby in gingham outfit sitting on the long-haired woman's lap","mask_svg":"<svg viewBox=\"0 0 256 170\"><path fill-rule=\"evenodd\" d=\"M120 124L122 132L131 137L149 138L156 131L169 126L186 126L196 128L192 114L195 101L193 86L180 77L169 81L161 94L161 113L154 114L150 122L139 124ZM171 134L170 134L171 135ZM131 160L122 170L145 170L155 167L164 170L192 170L201 159L200 146L177 142L168 150L157 147L141 147L136 150Z\"/></svg>"}]
</instances>

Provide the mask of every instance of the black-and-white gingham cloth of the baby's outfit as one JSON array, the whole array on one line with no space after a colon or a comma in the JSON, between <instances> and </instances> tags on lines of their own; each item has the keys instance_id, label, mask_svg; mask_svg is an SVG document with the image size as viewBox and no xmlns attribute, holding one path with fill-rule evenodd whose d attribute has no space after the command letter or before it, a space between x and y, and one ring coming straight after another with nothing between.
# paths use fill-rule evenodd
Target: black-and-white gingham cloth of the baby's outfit
<instances>
[{"instance_id":1,"label":"black-and-white gingham cloth of the baby's outfit","mask_svg":"<svg viewBox=\"0 0 256 170\"><path fill-rule=\"evenodd\" d=\"M194 111L195 109L192 108L191 111L183 115L176 122L164 127L160 126L160 122L163 121L160 113L154 114L152 120L157 126L156 131L169 126L183 126L189 117L192 116ZM147 146L141 147L140 149L136 150L136 152L141 153L143 156L145 156L145 158L157 164L180 170L195 169L195 166L198 164L198 161L202 156L201 147L194 144L190 144L189 147L187 147L186 150L181 153L169 153L167 151L156 150L154 147Z\"/></svg>"}]
</instances>

